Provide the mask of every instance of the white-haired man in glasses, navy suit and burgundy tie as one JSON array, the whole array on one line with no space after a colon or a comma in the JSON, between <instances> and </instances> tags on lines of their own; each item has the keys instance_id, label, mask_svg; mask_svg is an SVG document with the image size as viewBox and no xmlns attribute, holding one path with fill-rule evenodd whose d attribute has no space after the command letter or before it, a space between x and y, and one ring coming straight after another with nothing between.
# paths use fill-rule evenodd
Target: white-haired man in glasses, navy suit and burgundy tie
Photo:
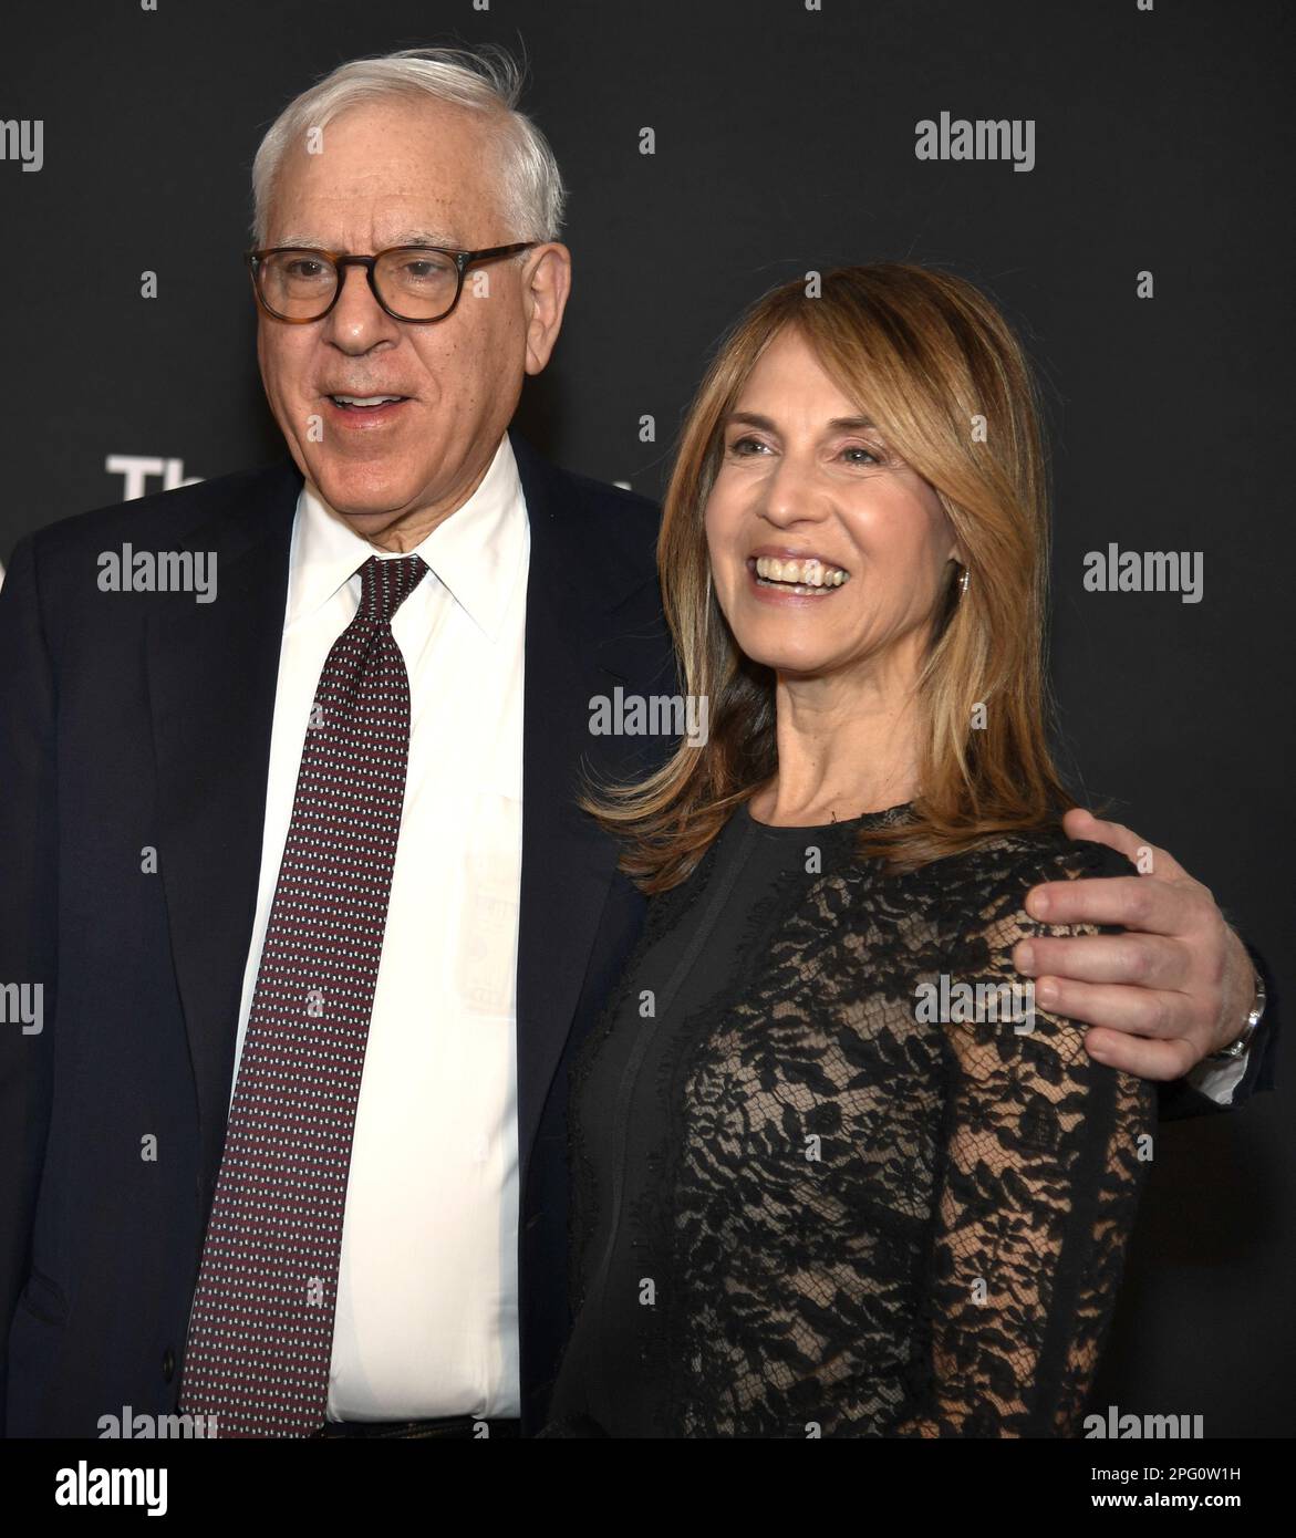
<instances>
[{"instance_id":1,"label":"white-haired man in glasses, navy suit and burgundy tie","mask_svg":"<svg viewBox=\"0 0 1296 1538\"><path fill-rule=\"evenodd\" d=\"M291 103L251 260L291 461L14 555L11 1435L95 1435L122 1406L222 1435L543 1424L566 1063L642 918L573 792L666 751L588 718L617 684L670 692L673 666L656 509L506 431L570 289L516 86L411 51ZM140 591L142 554L214 583ZM1034 944L1097 1057L1173 1080L1167 1114L1258 1083L1265 1032L1184 1078L1256 994L1168 855L1040 892L1048 923L1136 930Z\"/></svg>"}]
</instances>

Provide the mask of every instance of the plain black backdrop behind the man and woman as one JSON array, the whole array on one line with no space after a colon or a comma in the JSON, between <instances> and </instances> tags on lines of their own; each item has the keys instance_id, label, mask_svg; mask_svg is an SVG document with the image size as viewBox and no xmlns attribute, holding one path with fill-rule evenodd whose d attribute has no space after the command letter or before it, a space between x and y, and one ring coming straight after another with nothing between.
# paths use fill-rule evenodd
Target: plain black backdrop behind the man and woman
<instances>
[{"instance_id":1,"label":"plain black backdrop behind the man and woman","mask_svg":"<svg viewBox=\"0 0 1296 1538\"><path fill-rule=\"evenodd\" d=\"M296 91L400 46L525 49L523 108L570 185L576 263L525 431L659 495L705 357L770 285L908 258L985 286L1048 395L1074 772L1214 889L1296 998L1293 15L1285 0L1144 5L14 6L0 120L40 120L43 165L23 171L17 146L0 160L0 557L120 500L112 457L179 461L174 478L279 451L240 252L252 154ZM942 112L1034 120L1033 169L917 160L916 123ZM657 443L639 440L645 414ZM1085 552L1111 541L1201 552L1202 600L1085 591ZM1207 1436L1296 1429L1284 1077L1236 1117L1162 1129L1101 1406L1199 1413Z\"/></svg>"}]
</instances>

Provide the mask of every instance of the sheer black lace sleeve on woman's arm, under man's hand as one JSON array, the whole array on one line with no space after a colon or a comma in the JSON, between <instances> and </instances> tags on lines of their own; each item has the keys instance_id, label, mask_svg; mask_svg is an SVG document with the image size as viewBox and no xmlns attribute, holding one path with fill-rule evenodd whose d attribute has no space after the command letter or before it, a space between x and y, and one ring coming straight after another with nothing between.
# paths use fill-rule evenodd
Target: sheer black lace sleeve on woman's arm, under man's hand
<instances>
[{"instance_id":1,"label":"sheer black lace sleeve on woman's arm, under man's hand","mask_svg":"<svg viewBox=\"0 0 1296 1538\"><path fill-rule=\"evenodd\" d=\"M1020 904L1036 881L1117 867L1131 869L1094 844L1004 863L979 884L988 901L971 935L962 914L951 994L956 981L1022 987L1013 947L1030 935L1097 932L1040 924ZM944 1029L951 1092L925 1289L928 1392L893 1435L1067 1436L1114 1306L1153 1087L1094 1063L1085 1026L1037 1007L1033 1021Z\"/></svg>"}]
</instances>

